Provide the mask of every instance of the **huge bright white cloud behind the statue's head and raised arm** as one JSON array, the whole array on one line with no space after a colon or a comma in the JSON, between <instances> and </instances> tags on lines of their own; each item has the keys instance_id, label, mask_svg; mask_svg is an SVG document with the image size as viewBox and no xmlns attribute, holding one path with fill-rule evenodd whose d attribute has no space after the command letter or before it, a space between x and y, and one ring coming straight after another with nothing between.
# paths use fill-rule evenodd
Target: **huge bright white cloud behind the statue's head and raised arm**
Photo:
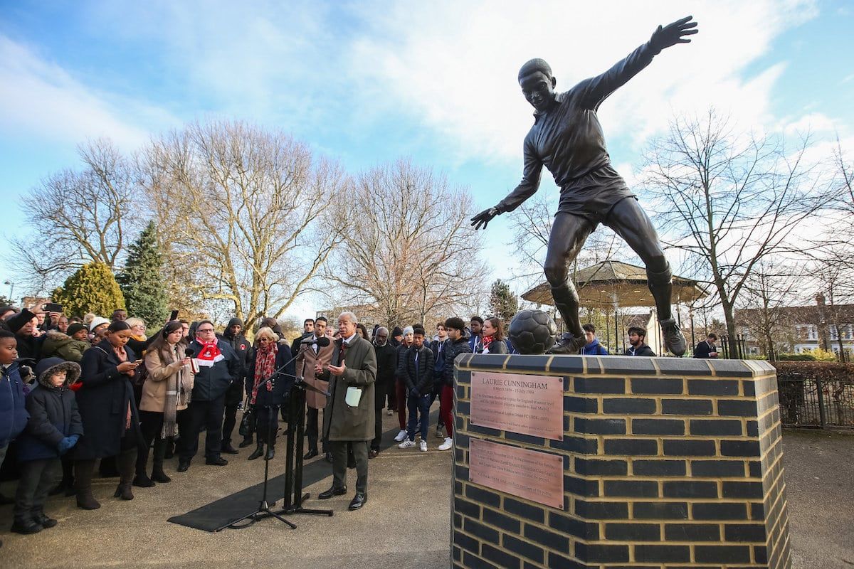
<instances>
[{"instance_id":1,"label":"huge bright white cloud behind the statue's head and raised arm","mask_svg":"<svg viewBox=\"0 0 854 569\"><path fill-rule=\"evenodd\" d=\"M782 63L746 76L772 40L816 14L813 3L693 4L700 32L659 55L600 110L606 136L642 142L673 113L711 104L736 118L768 121ZM461 159L521 154L531 108L516 84L530 57L550 62L559 88L604 72L675 20L682 3L412 3L366 8L373 30L354 44L348 69L361 104L408 107ZM746 77L745 77L746 76Z\"/></svg>"}]
</instances>

